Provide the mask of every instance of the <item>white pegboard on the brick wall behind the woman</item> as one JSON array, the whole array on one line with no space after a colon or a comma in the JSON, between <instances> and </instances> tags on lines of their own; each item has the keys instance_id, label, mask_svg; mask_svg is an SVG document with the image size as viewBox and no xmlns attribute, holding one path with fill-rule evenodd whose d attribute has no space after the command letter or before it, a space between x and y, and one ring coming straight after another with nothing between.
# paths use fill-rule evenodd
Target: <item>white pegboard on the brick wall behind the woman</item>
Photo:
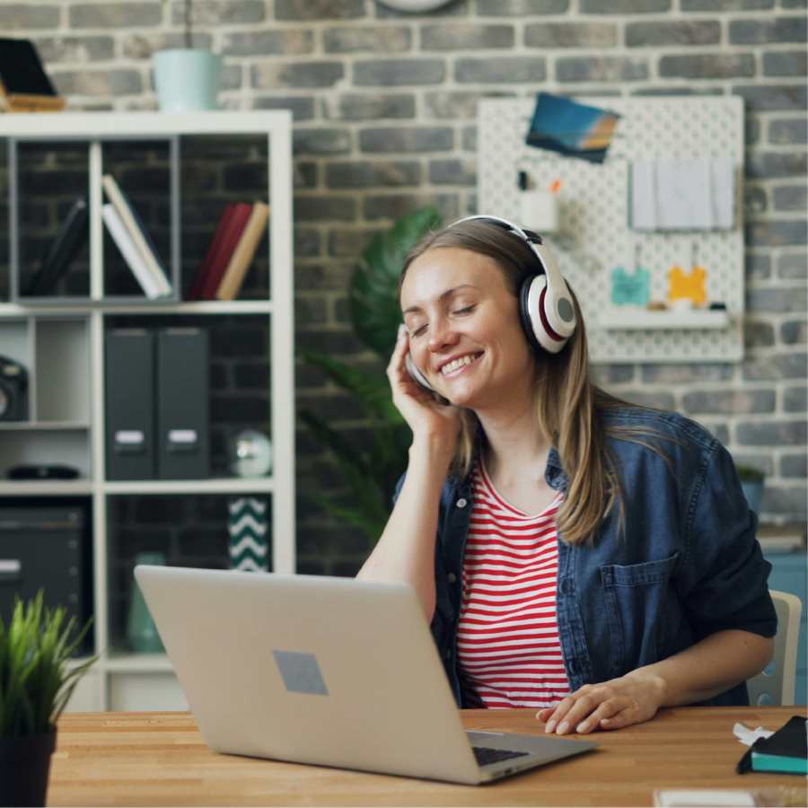
<instances>
[{"instance_id":1,"label":"white pegboard on the brick wall behind the woman","mask_svg":"<svg viewBox=\"0 0 808 808\"><path fill-rule=\"evenodd\" d=\"M558 233L545 238L584 313L593 363L737 362L743 356L742 166L743 103L727 98L581 98L621 117L602 164L563 157L524 143L534 99L479 103L479 212L521 223L519 171L537 189L560 180ZM733 229L687 233L628 227L631 162L726 157L733 161ZM707 296L725 303L721 328L612 328L605 318L632 312L614 307L610 274L638 264L651 272L651 299L665 300L668 271L707 268ZM637 310L635 310L637 313ZM647 315L644 317L647 320ZM691 318L692 319L692 318ZM688 320L681 318L684 323Z\"/></svg>"}]
</instances>

